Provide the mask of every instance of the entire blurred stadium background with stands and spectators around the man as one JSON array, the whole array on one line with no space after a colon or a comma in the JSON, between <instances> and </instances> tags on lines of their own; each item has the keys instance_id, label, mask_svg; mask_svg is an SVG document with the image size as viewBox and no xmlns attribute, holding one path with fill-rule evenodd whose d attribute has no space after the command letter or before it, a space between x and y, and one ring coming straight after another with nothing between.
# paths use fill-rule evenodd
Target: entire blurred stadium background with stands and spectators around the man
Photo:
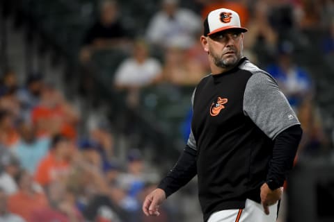
<instances>
[{"instance_id":1,"label":"entire blurred stadium background with stands and spectators around the man","mask_svg":"<svg viewBox=\"0 0 334 222\"><path fill-rule=\"evenodd\" d=\"M278 221L334 221L333 0L0 2L0 221L202 221L196 178L159 218L141 203L186 143L215 8L303 127Z\"/></svg>"}]
</instances>

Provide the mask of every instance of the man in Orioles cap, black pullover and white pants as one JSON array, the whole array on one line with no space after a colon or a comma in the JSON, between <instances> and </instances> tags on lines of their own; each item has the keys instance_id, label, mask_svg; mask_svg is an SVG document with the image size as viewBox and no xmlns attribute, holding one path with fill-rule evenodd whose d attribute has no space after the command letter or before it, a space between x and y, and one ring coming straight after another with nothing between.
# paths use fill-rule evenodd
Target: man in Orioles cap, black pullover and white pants
<instances>
[{"instance_id":1,"label":"man in Orioles cap, black pullover and white pants","mask_svg":"<svg viewBox=\"0 0 334 222\"><path fill-rule=\"evenodd\" d=\"M276 81L242 56L237 12L209 13L200 37L212 74L193 93L191 133L175 167L146 196L143 212L198 176L204 221L273 222L302 130Z\"/></svg>"}]
</instances>

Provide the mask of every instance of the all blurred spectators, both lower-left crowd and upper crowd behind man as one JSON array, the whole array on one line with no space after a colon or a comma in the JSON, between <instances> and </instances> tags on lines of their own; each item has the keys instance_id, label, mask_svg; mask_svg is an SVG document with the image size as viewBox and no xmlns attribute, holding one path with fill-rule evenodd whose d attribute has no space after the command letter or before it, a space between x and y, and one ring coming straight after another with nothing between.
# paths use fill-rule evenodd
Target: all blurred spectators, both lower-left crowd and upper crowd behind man
<instances>
[{"instance_id":1,"label":"all blurred spectators, both lower-left crowd and upper crowd behind man","mask_svg":"<svg viewBox=\"0 0 334 222\"><path fill-rule=\"evenodd\" d=\"M93 60L98 51L127 55L112 74L111 87L126 94L129 108L141 105L138 96L148 87L195 87L209 74L199 41L202 19L214 8L230 8L248 28L245 56L276 78L299 116L304 132L299 155L328 149L331 141L315 101L316 74L295 58L303 49L318 47L308 33L324 33L319 34L317 50L333 64L334 1L189 2L182 6L181 1L161 0L143 35L134 36L123 23L121 4L101 1L100 17L83 36L78 93L89 97L97 88L90 80L99 70ZM186 132L190 118L191 111L184 117ZM0 221L173 221L168 207L159 219L141 213L143 197L159 180L145 171L148 163L141 149L129 149L126 160L120 161L113 152L109 123L83 121L81 110L43 74L32 72L23 84L13 70L2 74ZM88 132L84 135L83 126Z\"/></svg>"}]
</instances>

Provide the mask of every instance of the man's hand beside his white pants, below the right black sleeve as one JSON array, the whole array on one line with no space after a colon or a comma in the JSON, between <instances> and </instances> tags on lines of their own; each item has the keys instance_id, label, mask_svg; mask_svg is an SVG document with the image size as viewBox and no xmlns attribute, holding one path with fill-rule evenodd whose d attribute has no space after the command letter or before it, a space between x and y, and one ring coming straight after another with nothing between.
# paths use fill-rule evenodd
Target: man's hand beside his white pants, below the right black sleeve
<instances>
[{"instance_id":1,"label":"man's hand beside his white pants, below the right black sleeve","mask_svg":"<svg viewBox=\"0 0 334 222\"><path fill-rule=\"evenodd\" d=\"M271 190L267 183L264 183L261 187L261 203L265 214L269 214L269 206L274 205L280 198L282 198L283 187L275 190Z\"/></svg>"}]
</instances>

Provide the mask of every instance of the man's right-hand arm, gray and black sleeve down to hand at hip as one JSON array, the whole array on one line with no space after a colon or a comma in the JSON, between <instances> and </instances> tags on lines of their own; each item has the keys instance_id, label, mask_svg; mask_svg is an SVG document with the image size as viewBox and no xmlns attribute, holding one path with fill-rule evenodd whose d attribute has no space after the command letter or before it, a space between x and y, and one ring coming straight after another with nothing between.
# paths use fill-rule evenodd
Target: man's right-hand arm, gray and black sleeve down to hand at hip
<instances>
[{"instance_id":1,"label":"man's right-hand arm, gray and black sleeve down to hand at hip","mask_svg":"<svg viewBox=\"0 0 334 222\"><path fill-rule=\"evenodd\" d=\"M253 74L244 94L244 112L273 140L272 157L260 197L264 212L282 196L287 173L292 169L301 139L299 120L275 80L264 73ZM268 186L269 185L269 186ZM269 188L270 187L270 188Z\"/></svg>"}]
</instances>

